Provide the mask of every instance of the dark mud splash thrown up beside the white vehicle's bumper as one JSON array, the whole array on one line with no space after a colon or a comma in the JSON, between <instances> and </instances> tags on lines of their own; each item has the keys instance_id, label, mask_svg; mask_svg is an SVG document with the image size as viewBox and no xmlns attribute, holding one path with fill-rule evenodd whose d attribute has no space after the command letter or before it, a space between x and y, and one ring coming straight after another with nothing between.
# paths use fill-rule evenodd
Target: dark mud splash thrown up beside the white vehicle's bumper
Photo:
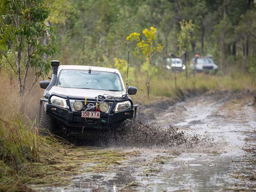
<instances>
[{"instance_id":1,"label":"dark mud splash thrown up beside the white vehicle's bumper","mask_svg":"<svg viewBox=\"0 0 256 192\"><path fill-rule=\"evenodd\" d=\"M124 121L112 133L113 137L110 137L112 139L109 144L113 147L191 149L211 148L219 145L214 137L208 134L199 135L193 132L191 134L173 125L164 127L160 122L142 123L135 119Z\"/></svg>"}]
</instances>

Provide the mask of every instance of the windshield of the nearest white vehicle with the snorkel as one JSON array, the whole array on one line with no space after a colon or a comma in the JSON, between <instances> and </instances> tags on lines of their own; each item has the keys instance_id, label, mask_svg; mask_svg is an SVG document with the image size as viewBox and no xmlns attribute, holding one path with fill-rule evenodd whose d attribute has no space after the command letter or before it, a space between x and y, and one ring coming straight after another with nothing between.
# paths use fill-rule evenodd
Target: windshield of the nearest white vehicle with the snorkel
<instances>
[{"instance_id":1,"label":"windshield of the nearest white vehicle with the snorkel","mask_svg":"<svg viewBox=\"0 0 256 192\"><path fill-rule=\"evenodd\" d=\"M69 70L60 71L58 87L122 91L119 75L111 72Z\"/></svg>"}]
</instances>

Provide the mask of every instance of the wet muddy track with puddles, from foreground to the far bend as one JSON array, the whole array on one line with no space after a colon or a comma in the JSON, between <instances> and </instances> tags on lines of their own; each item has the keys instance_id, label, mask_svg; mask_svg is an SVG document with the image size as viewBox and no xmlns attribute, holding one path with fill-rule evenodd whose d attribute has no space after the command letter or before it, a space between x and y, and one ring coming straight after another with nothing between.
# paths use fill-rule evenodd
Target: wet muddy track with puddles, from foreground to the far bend
<instances>
[{"instance_id":1,"label":"wet muddy track with puddles, from foreground to the far bend","mask_svg":"<svg viewBox=\"0 0 256 192\"><path fill-rule=\"evenodd\" d=\"M256 169L255 163L243 162L250 158L243 150L245 140L256 127L255 109L247 106L249 99L244 95L203 95L177 103L143 125L160 124L162 135L153 127L146 137L145 127L138 131L141 126L135 126L133 131L140 132L140 137L123 134L115 140L117 145L112 141L108 149L139 152L113 165L112 171L73 176L68 186L33 187L42 191L254 191L255 180L236 176L236 172L246 175ZM178 141L170 139L181 132Z\"/></svg>"}]
</instances>

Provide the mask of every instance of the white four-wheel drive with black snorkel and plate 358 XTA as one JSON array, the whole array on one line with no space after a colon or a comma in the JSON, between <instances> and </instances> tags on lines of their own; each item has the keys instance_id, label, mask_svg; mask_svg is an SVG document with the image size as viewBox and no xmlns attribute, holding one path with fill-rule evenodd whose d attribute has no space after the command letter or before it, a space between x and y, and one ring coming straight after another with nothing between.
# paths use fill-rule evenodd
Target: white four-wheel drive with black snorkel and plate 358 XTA
<instances>
[{"instance_id":1,"label":"white four-wheel drive with black snorkel and plate 358 XTA","mask_svg":"<svg viewBox=\"0 0 256 192\"><path fill-rule=\"evenodd\" d=\"M135 95L137 88L126 90L117 69L59 65L57 60L51 64L51 81L39 83L45 89L41 127L53 133L81 132L136 118L137 105L130 95Z\"/></svg>"}]
</instances>

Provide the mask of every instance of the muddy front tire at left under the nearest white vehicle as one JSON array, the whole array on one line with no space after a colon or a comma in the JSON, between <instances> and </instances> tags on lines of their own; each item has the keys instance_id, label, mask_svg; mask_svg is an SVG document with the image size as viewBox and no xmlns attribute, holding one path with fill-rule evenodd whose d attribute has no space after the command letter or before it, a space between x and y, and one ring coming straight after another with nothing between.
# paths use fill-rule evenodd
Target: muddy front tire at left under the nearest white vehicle
<instances>
[{"instance_id":1,"label":"muddy front tire at left under the nearest white vehicle","mask_svg":"<svg viewBox=\"0 0 256 192\"><path fill-rule=\"evenodd\" d=\"M59 126L57 122L47 113L42 114L38 127L40 134L43 136L49 136L50 134L47 133L48 131L51 132L53 135L57 135L59 133Z\"/></svg>"}]
</instances>

